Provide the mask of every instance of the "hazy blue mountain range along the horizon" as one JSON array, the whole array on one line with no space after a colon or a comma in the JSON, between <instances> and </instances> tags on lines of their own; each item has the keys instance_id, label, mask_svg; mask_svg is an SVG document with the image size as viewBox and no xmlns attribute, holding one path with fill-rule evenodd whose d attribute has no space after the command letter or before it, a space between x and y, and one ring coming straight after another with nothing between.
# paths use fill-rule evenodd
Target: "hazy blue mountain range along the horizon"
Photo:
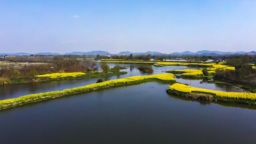
<instances>
[{"instance_id":1,"label":"hazy blue mountain range along the horizon","mask_svg":"<svg viewBox=\"0 0 256 144\"><path fill-rule=\"evenodd\" d=\"M36 54L42 54L42 55L146 55L146 54L151 54L151 55L164 55L161 52L119 52L118 54L111 54L109 52L105 52L105 51L92 51L92 52L70 52L70 53L65 53L65 54L59 54L59 53L51 53L51 52L41 52L41 53L36 53ZM34 54L34 55L36 55ZM254 55L256 54L256 52L252 51L252 52L219 52L219 51L210 51L210 50L201 50L198 52L190 52L190 51L186 51L186 52L174 52L174 53L170 53L170 55L176 55L176 56L184 56L184 55L204 55L204 56L216 56L216 55L230 55L230 54L248 54L248 55ZM29 56L31 54L29 53L25 53L25 52L18 52L18 53L14 53L14 54L9 54L9 53L0 53L0 55L12 55L12 56ZM165 54L165 55L169 55L169 54Z\"/></svg>"}]
</instances>

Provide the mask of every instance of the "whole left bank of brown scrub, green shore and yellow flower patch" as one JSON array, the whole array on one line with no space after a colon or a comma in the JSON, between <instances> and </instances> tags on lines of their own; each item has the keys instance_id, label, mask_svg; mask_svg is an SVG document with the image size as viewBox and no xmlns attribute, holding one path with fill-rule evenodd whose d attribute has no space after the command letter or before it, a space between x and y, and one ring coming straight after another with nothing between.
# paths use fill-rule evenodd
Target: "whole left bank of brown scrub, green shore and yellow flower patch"
<instances>
[{"instance_id":1,"label":"whole left bank of brown scrub, green shore and yellow flower patch","mask_svg":"<svg viewBox=\"0 0 256 144\"><path fill-rule=\"evenodd\" d=\"M126 74L121 67L109 68L90 60L61 60L54 63L2 63L0 85L70 78L96 78ZM102 71L102 72L100 72Z\"/></svg>"}]
</instances>

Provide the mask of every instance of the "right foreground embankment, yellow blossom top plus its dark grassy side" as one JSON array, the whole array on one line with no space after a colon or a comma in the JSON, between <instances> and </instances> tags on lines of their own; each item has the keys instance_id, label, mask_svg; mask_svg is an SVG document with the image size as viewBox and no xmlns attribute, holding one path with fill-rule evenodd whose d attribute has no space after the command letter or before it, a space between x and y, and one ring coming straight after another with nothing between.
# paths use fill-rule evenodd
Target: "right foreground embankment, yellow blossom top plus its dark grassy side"
<instances>
[{"instance_id":1,"label":"right foreground embankment, yellow blossom top plus its dark grassy side","mask_svg":"<svg viewBox=\"0 0 256 144\"><path fill-rule=\"evenodd\" d=\"M184 84L173 84L167 89L168 93L187 98L199 100L213 100L218 102L240 103L248 105L256 105L255 93L244 92L220 92L214 90L206 90L202 88L193 88Z\"/></svg>"}]
</instances>

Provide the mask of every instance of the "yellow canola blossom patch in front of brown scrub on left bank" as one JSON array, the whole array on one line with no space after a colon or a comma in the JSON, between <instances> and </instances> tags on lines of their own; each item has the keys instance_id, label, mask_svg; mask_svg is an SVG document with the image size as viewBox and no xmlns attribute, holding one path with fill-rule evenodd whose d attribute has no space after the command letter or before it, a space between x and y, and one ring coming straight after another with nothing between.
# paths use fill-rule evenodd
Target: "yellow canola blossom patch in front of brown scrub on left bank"
<instances>
[{"instance_id":1,"label":"yellow canola blossom patch in front of brown scrub on left bank","mask_svg":"<svg viewBox=\"0 0 256 144\"><path fill-rule=\"evenodd\" d=\"M84 75L85 73L83 72L70 72L70 73L52 73L52 74L43 74L43 75L37 75L35 76L36 78L45 78L45 77L49 77L52 79L56 79L56 78L64 78L64 77L77 77L80 75Z\"/></svg>"}]
</instances>

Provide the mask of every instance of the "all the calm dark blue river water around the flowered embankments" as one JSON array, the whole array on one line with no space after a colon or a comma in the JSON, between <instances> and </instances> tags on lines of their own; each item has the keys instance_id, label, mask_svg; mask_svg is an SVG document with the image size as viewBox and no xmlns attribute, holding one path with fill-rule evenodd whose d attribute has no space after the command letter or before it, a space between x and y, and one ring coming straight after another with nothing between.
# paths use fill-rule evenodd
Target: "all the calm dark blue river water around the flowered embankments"
<instances>
[{"instance_id":1,"label":"all the calm dark blue river water around the flowered embankments","mask_svg":"<svg viewBox=\"0 0 256 144\"><path fill-rule=\"evenodd\" d=\"M115 64L109 64L114 67ZM146 75L138 65L113 80ZM154 67L152 74L188 67ZM59 80L0 87L0 98L15 98L95 83L98 78ZM223 84L198 88L241 92ZM13 143L256 143L256 111L239 104L196 101L166 93L169 84L147 82L96 90L0 110L0 144ZM234 108L238 107L238 108Z\"/></svg>"}]
</instances>

